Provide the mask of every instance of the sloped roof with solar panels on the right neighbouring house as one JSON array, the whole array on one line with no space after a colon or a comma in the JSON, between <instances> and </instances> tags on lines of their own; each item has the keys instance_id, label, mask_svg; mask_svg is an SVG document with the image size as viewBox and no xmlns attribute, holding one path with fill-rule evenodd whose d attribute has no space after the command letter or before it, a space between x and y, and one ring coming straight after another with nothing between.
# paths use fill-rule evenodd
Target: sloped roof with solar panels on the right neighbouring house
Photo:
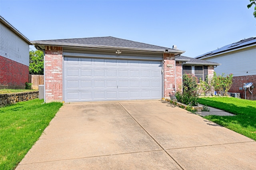
<instances>
[{"instance_id":1,"label":"sloped roof with solar panels on the right neighbouring house","mask_svg":"<svg viewBox=\"0 0 256 170\"><path fill-rule=\"evenodd\" d=\"M232 44L229 44L229 45L225 45L221 48L215 49L214 51L209 51L209 52L204 53L202 55L198 55L195 58L209 57L209 56L214 55L214 54L222 53L222 52L225 52L225 51L230 51L232 49L238 49L238 48L245 47L245 46L252 45L252 44L256 44L256 37L247 38L247 39L244 39L244 40L240 40L239 42L235 42L235 43L232 43Z\"/></svg>"}]
</instances>

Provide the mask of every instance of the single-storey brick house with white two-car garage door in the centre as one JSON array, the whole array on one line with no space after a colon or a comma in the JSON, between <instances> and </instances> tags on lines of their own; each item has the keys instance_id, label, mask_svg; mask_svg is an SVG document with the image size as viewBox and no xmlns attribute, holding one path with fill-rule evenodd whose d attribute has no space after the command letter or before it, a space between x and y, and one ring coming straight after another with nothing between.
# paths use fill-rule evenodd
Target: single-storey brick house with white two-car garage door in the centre
<instances>
[{"instance_id":1,"label":"single-storey brick house with white two-car garage door in the centre","mask_svg":"<svg viewBox=\"0 0 256 170\"><path fill-rule=\"evenodd\" d=\"M170 99L182 83L182 65L192 59L180 56L185 51L175 45L160 47L114 37L32 44L45 52L46 102ZM210 74L218 65L196 61L207 65Z\"/></svg>"}]
</instances>

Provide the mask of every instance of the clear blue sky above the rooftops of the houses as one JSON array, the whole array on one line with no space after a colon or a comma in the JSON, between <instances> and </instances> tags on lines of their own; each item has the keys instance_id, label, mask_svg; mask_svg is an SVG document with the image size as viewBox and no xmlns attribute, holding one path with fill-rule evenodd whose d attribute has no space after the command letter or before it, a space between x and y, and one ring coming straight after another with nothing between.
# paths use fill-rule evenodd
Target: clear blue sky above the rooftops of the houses
<instances>
[{"instance_id":1,"label":"clear blue sky above the rooftops of the houses","mask_svg":"<svg viewBox=\"0 0 256 170\"><path fill-rule=\"evenodd\" d=\"M196 57L256 37L249 0L0 0L0 15L29 40L113 36Z\"/></svg>"}]
</instances>

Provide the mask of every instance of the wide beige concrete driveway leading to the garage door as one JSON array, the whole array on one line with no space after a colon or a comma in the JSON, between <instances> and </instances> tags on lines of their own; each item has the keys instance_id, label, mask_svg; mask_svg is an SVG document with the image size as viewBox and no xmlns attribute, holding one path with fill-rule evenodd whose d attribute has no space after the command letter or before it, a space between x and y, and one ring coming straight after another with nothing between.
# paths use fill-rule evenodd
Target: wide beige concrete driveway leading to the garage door
<instances>
[{"instance_id":1,"label":"wide beige concrete driveway leading to the garage door","mask_svg":"<svg viewBox=\"0 0 256 170\"><path fill-rule=\"evenodd\" d=\"M256 142L165 101L64 104L16 170L256 169Z\"/></svg>"}]
</instances>

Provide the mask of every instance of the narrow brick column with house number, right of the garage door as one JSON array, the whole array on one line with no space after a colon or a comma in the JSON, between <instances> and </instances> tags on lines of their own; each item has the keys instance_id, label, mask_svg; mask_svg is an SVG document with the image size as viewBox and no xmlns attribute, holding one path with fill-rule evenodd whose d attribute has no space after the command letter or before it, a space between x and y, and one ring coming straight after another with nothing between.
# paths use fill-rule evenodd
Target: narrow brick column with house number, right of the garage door
<instances>
[{"instance_id":1,"label":"narrow brick column with house number, right of the garage door","mask_svg":"<svg viewBox=\"0 0 256 170\"><path fill-rule=\"evenodd\" d=\"M167 67L167 65L171 67ZM174 54L164 53L164 98L175 96L175 60Z\"/></svg>"}]
</instances>

